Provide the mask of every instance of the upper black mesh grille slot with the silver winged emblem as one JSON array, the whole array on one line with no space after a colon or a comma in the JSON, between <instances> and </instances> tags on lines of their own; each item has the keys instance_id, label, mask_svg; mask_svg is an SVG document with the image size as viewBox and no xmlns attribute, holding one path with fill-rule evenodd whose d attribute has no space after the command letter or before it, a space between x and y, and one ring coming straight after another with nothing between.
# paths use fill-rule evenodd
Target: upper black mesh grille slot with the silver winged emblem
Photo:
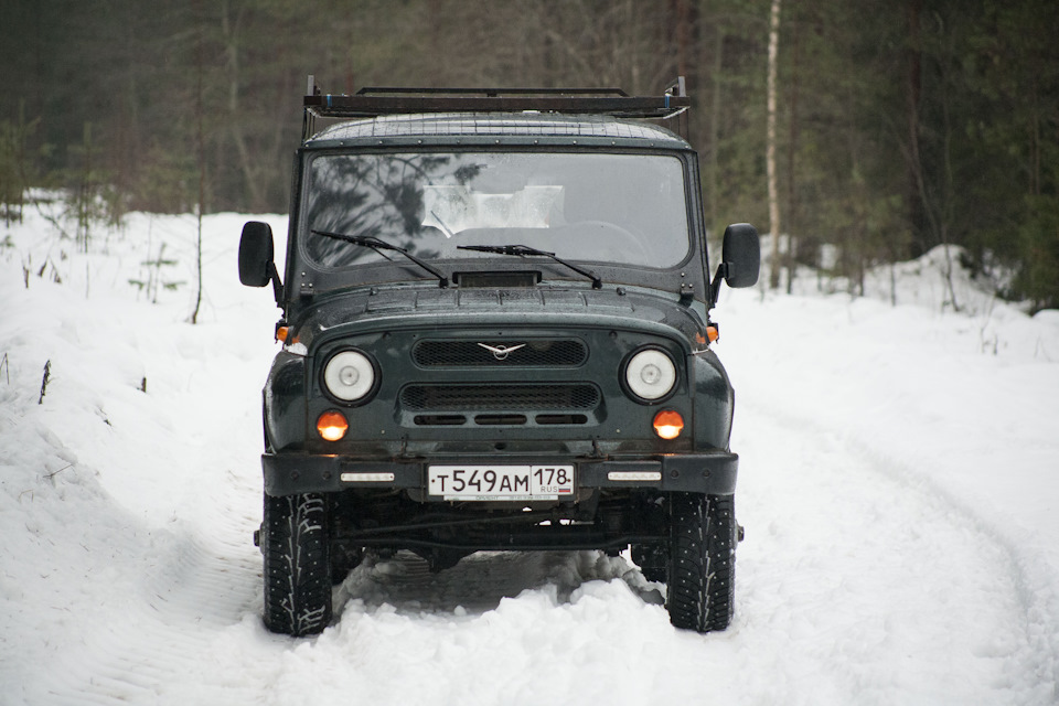
<instances>
[{"instance_id":1,"label":"upper black mesh grille slot with the silver winged emblem","mask_svg":"<svg viewBox=\"0 0 1059 706\"><path fill-rule=\"evenodd\" d=\"M427 340L413 347L411 357L420 367L576 367L588 359L588 347L577 339Z\"/></svg>"}]
</instances>

